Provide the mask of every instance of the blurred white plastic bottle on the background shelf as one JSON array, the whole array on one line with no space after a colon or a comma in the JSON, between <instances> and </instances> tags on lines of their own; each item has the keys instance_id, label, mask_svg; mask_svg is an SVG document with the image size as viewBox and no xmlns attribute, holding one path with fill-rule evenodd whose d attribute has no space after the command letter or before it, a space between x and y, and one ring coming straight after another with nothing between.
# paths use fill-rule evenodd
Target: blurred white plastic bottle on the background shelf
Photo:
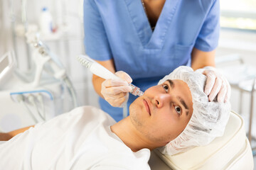
<instances>
[{"instance_id":1,"label":"blurred white plastic bottle on the background shelf","mask_svg":"<svg viewBox=\"0 0 256 170\"><path fill-rule=\"evenodd\" d=\"M50 11L46 7L42 8L39 26L41 29L41 33L43 33L44 35L53 33L53 17L51 16Z\"/></svg>"}]
</instances>

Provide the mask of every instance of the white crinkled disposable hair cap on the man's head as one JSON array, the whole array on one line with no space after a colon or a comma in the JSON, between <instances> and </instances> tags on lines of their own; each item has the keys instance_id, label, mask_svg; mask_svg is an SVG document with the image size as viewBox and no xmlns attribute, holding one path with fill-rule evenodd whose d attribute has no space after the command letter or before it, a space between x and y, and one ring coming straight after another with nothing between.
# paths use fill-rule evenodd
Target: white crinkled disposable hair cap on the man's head
<instances>
[{"instance_id":1,"label":"white crinkled disposable hair cap on the man's head","mask_svg":"<svg viewBox=\"0 0 256 170\"><path fill-rule=\"evenodd\" d=\"M208 101L208 96L203 92L206 76L201 70L193 72L191 67L181 66L161 79L159 84L167 79L179 79L188 84L193 114L183 132L165 147L160 147L160 152L168 155L186 152L191 147L208 145L215 137L222 136L230 116L230 102Z\"/></svg>"}]
</instances>

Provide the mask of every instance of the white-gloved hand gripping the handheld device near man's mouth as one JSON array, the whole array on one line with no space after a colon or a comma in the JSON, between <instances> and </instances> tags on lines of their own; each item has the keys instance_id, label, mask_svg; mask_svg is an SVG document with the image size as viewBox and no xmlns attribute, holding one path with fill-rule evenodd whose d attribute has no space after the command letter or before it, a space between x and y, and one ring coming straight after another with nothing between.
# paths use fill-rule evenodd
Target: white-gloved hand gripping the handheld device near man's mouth
<instances>
[{"instance_id":1,"label":"white-gloved hand gripping the handheld device near man's mouth","mask_svg":"<svg viewBox=\"0 0 256 170\"><path fill-rule=\"evenodd\" d=\"M101 93L111 106L122 108L129 98L129 91L132 91L132 87L128 86L132 83L132 78L122 71L116 72L115 75L123 81L117 79L103 81Z\"/></svg>"}]
</instances>

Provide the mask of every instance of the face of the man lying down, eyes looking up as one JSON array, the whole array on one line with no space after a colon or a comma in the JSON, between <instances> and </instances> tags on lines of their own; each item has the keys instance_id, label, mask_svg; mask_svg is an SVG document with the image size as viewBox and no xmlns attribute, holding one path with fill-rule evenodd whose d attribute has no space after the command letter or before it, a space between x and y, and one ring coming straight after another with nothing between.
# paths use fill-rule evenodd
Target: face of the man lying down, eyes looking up
<instances>
[{"instance_id":1,"label":"face of the man lying down, eyes looking up","mask_svg":"<svg viewBox=\"0 0 256 170\"><path fill-rule=\"evenodd\" d=\"M191 91L181 80L167 80L147 89L129 108L135 128L164 146L186 128L193 113Z\"/></svg>"}]
</instances>

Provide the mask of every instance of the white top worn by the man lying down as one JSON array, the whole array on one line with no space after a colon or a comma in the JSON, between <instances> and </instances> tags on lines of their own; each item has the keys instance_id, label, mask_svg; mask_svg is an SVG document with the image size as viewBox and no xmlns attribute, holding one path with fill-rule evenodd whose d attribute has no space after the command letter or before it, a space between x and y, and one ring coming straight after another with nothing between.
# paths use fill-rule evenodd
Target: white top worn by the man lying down
<instances>
[{"instance_id":1,"label":"white top worn by the man lying down","mask_svg":"<svg viewBox=\"0 0 256 170\"><path fill-rule=\"evenodd\" d=\"M75 108L1 144L0 169L150 169L149 149L132 152L114 123L98 108Z\"/></svg>"}]
</instances>

